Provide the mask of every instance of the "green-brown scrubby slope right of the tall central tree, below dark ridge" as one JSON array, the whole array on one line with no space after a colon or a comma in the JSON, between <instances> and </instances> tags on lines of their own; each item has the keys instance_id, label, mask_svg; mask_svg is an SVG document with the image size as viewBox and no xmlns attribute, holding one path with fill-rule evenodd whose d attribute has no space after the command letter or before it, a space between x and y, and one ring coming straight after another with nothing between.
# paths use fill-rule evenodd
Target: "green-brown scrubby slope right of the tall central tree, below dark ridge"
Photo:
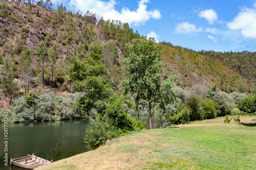
<instances>
[{"instance_id":1,"label":"green-brown scrubby slope right of the tall central tree, below dark ridge","mask_svg":"<svg viewBox=\"0 0 256 170\"><path fill-rule=\"evenodd\" d=\"M221 75L226 75L228 81L235 76L237 78L236 84L234 84L236 88L243 84L248 89L245 78L217 61L200 54L188 53L184 50L178 53L176 48L162 44L158 45L163 52L164 73L168 75L172 71L179 75L181 82L187 89L193 86L193 84L202 84L206 87L216 84L220 89ZM175 55L173 55L173 52ZM210 66L213 67L213 71L211 71ZM224 88L224 85L222 87Z\"/></svg>"}]
</instances>

